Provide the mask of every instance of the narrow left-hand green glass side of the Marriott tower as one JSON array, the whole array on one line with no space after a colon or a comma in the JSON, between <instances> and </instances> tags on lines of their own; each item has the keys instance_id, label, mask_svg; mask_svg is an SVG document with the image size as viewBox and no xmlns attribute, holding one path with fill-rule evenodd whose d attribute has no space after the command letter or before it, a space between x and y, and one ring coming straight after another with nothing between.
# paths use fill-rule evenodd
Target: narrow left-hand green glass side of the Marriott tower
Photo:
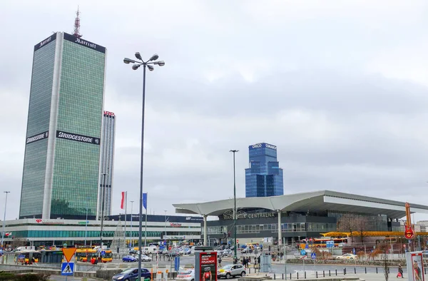
<instances>
[{"instance_id":1,"label":"narrow left-hand green glass side of the Marriott tower","mask_svg":"<svg viewBox=\"0 0 428 281\"><path fill-rule=\"evenodd\" d=\"M28 138L49 131L55 44L56 40L53 40L34 51L20 217L42 213L48 138L38 141L29 141Z\"/></svg>"}]
</instances>

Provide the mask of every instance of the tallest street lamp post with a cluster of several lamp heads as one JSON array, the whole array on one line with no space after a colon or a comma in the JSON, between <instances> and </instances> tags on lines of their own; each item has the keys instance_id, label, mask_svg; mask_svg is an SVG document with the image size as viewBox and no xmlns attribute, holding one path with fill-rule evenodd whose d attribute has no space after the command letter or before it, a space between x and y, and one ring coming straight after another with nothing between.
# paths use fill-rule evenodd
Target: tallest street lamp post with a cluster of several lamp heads
<instances>
[{"instance_id":1,"label":"tallest street lamp post with a cluster of several lamp heads","mask_svg":"<svg viewBox=\"0 0 428 281\"><path fill-rule=\"evenodd\" d=\"M123 63L133 63L132 69L137 70L143 66L143 107L141 111L141 164L140 164L140 210L138 213L138 281L141 281L141 233L143 231L143 155L144 155L144 108L146 102L146 68L153 71L155 68L153 64L158 66L165 66L165 61L157 61L159 56L155 53L148 61L143 61L141 54L136 52L138 61L131 58L123 58Z\"/></svg>"}]
</instances>

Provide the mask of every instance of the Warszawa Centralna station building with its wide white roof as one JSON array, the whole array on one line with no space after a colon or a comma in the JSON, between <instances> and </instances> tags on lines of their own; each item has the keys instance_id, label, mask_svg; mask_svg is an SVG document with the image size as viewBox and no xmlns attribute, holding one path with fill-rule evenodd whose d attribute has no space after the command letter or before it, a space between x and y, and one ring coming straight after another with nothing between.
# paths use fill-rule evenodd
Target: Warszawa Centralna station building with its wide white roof
<instances>
[{"instance_id":1,"label":"Warszawa Centralna station building with its wide white roof","mask_svg":"<svg viewBox=\"0 0 428 281\"><path fill-rule=\"evenodd\" d=\"M233 238L234 199L173 204L175 213L203 215L203 241L207 245ZM263 198L236 198L238 243L293 242L337 231L342 215L364 218L367 231L401 231L399 219L405 203L362 195L320 190ZM428 213L428 206L410 204L412 213ZM217 220L207 220L213 216Z\"/></svg>"}]
</instances>

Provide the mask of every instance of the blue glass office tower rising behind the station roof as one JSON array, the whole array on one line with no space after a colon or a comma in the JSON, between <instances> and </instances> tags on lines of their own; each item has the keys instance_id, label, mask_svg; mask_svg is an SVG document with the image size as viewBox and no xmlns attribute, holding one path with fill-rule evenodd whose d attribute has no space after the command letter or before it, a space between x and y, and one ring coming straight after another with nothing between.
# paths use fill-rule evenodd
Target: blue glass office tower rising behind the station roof
<instances>
[{"instance_id":1,"label":"blue glass office tower rising behind the station roof","mask_svg":"<svg viewBox=\"0 0 428 281\"><path fill-rule=\"evenodd\" d=\"M245 169L245 197L284 195L277 147L269 143L248 146L250 168Z\"/></svg>"}]
</instances>

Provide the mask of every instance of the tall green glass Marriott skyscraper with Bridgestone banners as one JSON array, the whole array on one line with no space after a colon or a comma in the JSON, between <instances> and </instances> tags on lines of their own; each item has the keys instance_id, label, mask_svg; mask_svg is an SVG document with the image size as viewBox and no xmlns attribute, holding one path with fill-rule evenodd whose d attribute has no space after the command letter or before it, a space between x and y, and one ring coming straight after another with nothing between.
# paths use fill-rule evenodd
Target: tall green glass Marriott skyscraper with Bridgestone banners
<instances>
[{"instance_id":1,"label":"tall green glass Marriott skyscraper with Bridgestone banners","mask_svg":"<svg viewBox=\"0 0 428 281\"><path fill-rule=\"evenodd\" d=\"M105 66L70 34L34 46L20 218L96 216Z\"/></svg>"}]
</instances>

